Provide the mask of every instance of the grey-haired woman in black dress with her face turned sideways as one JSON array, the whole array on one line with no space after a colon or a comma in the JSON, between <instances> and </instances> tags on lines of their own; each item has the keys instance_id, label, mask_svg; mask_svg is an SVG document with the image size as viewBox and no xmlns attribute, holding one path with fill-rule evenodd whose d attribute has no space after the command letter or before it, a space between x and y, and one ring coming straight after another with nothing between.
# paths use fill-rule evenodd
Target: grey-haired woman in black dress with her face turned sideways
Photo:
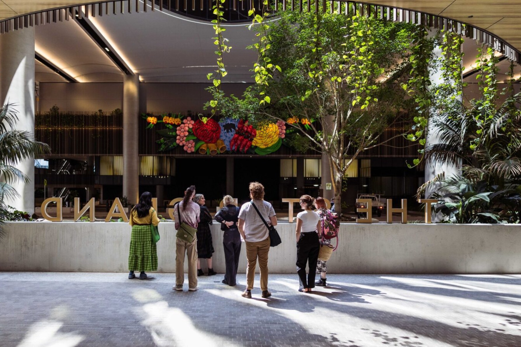
<instances>
[{"instance_id":1,"label":"grey-haired woman in black dress with her face turned sideways","mask_svg":"<svg viewBox=\"0 0 521 347\"><path fill-rule=\"evenodd\" d=\"M204 195L196 194L193 201L198 203L201 208L199 224L197 224L197 276L204 275L201 269L201 259L208 262L208 276L216 275L212 266L212 253L214 253L214 242L212 241L212 230L210 225L213 223L212 215L204 205L206 200Z\"/></svg>"}]
</instances>

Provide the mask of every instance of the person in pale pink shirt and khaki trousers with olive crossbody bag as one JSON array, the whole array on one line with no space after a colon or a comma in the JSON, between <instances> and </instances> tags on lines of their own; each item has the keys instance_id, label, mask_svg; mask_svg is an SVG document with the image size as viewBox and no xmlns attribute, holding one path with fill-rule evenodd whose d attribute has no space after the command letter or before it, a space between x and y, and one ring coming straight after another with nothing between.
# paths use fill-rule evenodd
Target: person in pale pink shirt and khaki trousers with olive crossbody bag
<instances>
[{"instance_id":1,"label":"person in pale pink shirt and khaki trousers with olive crossbody bag","mask_svg":"<svg viewBox=\"0 0 521 347\"><path fill-rule=\"evenodd\" d=\"M184 255L188 256L188 290L196 291L197 287L197 224L200 222L199 204L192 201L195 186L184 191L183 201L173 207L176 218L176 284L173 290L182 291L184 282Z\"/></svg>"}]
</instances>

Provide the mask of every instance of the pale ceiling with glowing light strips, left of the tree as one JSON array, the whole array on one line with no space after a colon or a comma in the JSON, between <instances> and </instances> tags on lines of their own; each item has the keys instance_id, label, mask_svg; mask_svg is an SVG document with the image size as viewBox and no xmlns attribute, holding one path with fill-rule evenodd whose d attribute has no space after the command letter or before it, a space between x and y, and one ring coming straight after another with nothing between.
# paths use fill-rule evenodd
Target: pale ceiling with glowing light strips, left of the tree
<instances>
[{"instance_id":1,"label":"pale ceiling with glowing light strips, left of the tree","mask_svg":"<svg viewBox=\"0 0 521 347\"><path fill-rule=\"evenodd\" d=\"M122 82L123 73L109 51L138 73L141 82L208 83L206 75L217 69L212 23L166 11L83 20L105 44L97 44L77 20L35 28L36 54L77 82ZM224 35L232 48L223 56L228 74L222 82L253 83L250 70L257 53L246 46L253 43L255 33L245 24L231 24ZM41 63L36 65L35 79L64 81Z\"/></svg>"}]
</instances>

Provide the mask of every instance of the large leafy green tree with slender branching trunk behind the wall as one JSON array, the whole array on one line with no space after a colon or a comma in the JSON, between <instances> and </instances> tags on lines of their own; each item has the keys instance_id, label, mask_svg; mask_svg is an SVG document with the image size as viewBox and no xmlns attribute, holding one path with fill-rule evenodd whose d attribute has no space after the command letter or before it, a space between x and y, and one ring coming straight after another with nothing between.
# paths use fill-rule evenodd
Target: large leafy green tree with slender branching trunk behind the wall
<instances>
[{"instance_id":1,"label":"large leafy green tree with slender branching trunk behind the wall","mask_svg":"<svg viewBox=\"0 0 521 347\"><path fill-rule=\"evenodd\" d=\"M287 142L328 158L340 213L349 166L359 153L382 144L380 135L399 126L408 108L400 82L408 79L414 25L359 12L278 16L258 25L259 41L252 46L259 50L257 83L240 98L221 96L221 113L257 124L301 120L287 124L295 130Z\"/></svg>"}]
</instances>

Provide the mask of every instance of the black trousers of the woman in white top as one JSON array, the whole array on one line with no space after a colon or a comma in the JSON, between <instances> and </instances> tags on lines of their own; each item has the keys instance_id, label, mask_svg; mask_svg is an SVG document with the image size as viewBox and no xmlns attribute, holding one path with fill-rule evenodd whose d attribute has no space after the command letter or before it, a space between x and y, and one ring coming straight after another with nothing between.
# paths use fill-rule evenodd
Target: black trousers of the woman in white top
<instances>
[{"instance_id":1,"label":"black trousers of the woman in white top","mask_svg":"<svg viewBox=\"0 0 521 347\"><path fill-rule=\"evenodd\" d=\"M300 288L315 288L315 272L317 269L320 242L317 233L301 233L296 243L296 273L299 274ZM306 276L306 263L309 273Z\"/></svg>"}]
</instances>

